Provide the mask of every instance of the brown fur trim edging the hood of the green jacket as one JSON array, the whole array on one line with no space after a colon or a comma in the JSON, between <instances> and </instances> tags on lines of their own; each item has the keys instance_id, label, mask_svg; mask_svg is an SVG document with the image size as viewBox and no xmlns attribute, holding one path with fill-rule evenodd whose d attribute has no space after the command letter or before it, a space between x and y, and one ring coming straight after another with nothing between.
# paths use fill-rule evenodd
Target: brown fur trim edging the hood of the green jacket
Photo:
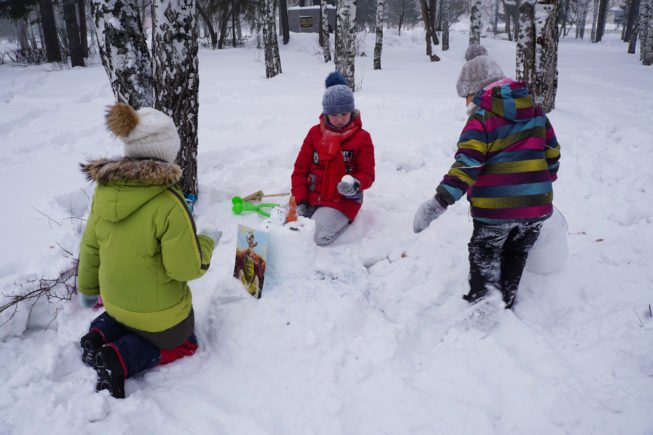
<instances>
[{"instance_id":1,"label":"brown fur trim edging the hood of the green jacket","mask_svg":"<svg viewBox=\"0 0 653 435\"><path fill-rule=\"evenodd\" d=\"M80 166L89 181L95 181L101 186L129 181L146 185L170 185L181 179L179 165L152 159L97 159Z\"/></svg>"}]
</instances>

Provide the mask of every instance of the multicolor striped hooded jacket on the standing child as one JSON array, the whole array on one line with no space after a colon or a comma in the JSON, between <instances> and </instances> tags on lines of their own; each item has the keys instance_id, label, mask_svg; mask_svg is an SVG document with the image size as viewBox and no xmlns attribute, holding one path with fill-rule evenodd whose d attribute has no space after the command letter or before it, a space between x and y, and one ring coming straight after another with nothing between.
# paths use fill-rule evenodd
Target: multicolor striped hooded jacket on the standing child
<instances>
[{"instance_id":1,"label":"multicolor striped hooded jacket on the standing child","mask_svg":"<svg viewBox=\"0 0 653 435\"><path fill-rule=\"evenodd\" d=\"M511 79L488 85L473 101L478 109L467 120L438 199L453 204L467 192L472 217L490 223L547 219L560 159L548 118L526 83Z\"/></svg>"}]
</instances>

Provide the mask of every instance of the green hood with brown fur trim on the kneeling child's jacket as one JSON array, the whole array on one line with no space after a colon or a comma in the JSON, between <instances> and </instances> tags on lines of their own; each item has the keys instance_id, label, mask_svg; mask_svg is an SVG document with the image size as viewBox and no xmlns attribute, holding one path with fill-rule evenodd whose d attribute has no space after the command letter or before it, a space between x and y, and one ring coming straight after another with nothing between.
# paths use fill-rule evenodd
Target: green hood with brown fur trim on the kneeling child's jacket
<instances>
[{"instance_id":1,"label":"green hood with brown fur trim on the kneeling child's jacket","mask_svg":"<svg viewBox=\"0 0 653 435\"><path fill-rule=\"evenodd\" d=\"M181 178L178 165L150 159L100 159L81 166L87 178L98 184L93 212L109 222L126 219L161 193L176 189L173 186Z\"/></svg>"}]
</instances>

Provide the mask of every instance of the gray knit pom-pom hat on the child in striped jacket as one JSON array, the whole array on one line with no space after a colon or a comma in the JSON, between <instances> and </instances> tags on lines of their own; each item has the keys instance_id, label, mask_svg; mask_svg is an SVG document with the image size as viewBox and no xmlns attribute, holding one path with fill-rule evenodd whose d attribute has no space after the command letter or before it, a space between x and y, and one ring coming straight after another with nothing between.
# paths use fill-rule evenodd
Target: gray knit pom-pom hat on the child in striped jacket
<instances>
[{"instance_id":1,"label":"gray knit pom-pom hat on the child in striped jacket","mask_svg":"<svg viewBox=\"0 0 653 435\"><path fill-rule=\"evenodd\" d=\"M467 62L460 70L456 82L456 91L460 97L473 95L490 83L506 77L499 64L488 56L482 45L470 45L465 51L465 60Z\"/></svg>"}]
</instances>

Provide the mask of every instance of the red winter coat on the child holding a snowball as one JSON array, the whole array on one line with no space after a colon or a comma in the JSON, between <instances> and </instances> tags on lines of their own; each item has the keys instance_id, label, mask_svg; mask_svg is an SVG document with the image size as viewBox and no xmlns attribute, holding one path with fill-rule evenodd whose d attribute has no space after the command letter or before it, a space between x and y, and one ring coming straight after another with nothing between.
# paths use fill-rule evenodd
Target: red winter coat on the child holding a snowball
<instances>
[{"instance_id":1,"label":"red winter coat on the child holding a snowball","mask_svg":"<svg viewBox=\"0 0 653 435\"><path fill-rule=\"evenodd\" d=\"M353 221L363 203L362 191L374 182L374 144L363 130L360 114L343 130L326 124L323 115L306 135L291 176L292 194L297 204L326 206L340 210ZM336 188L343 175L360 182L361 193L346 198Z\"/></svg>"}]
</instances>

